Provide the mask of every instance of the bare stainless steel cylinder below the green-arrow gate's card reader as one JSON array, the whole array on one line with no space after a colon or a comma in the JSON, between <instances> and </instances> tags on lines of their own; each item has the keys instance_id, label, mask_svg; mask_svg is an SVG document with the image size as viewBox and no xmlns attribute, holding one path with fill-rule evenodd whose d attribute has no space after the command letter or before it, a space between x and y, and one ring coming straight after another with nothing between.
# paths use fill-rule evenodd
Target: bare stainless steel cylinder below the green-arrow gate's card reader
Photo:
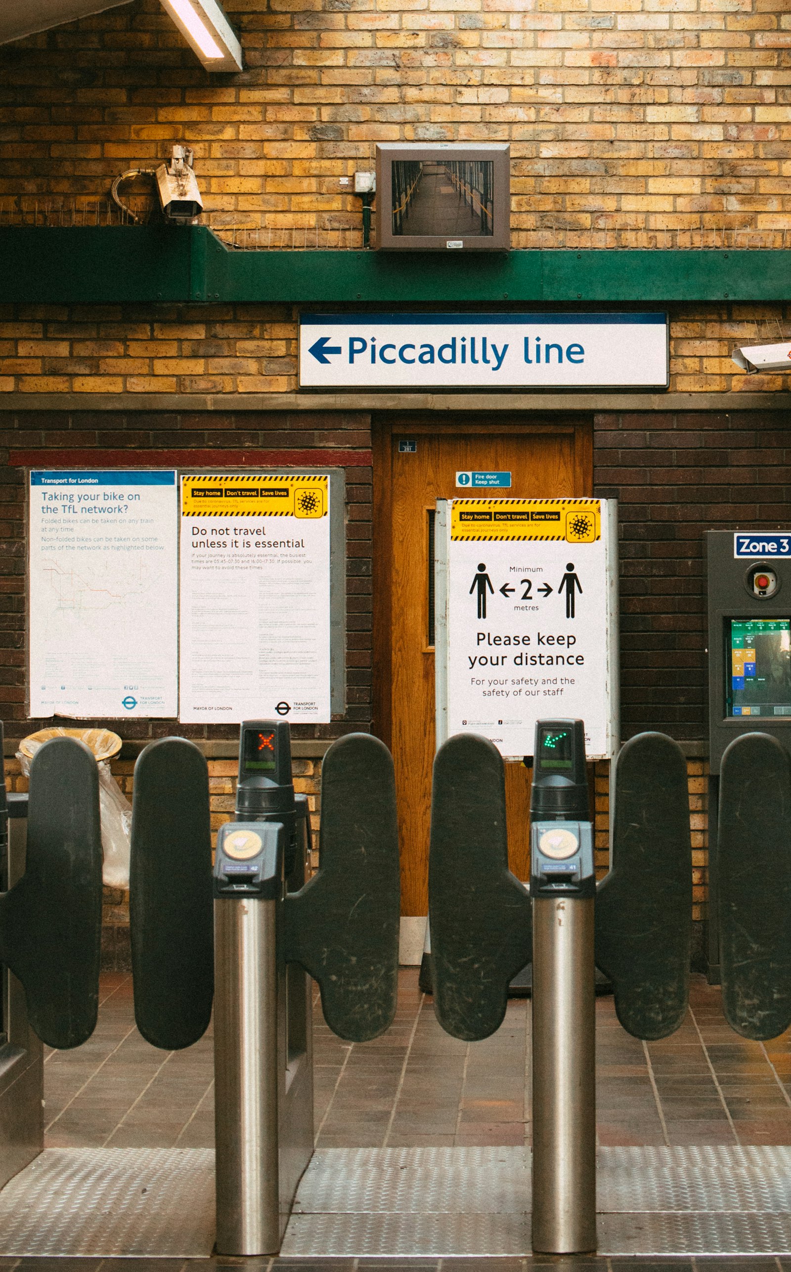
<instances>
[{"instance_id":1,"label":"bare stainless steel cylinder below the green-arrow gate's card reader","mask_svg":"<svg viewBox=\"0 0 791 1272\"><path fill-rule=\"evenodd\" d=\"M596 1248L594 899L533 902L533 1249Z\"/></svg>"}]
</instances>

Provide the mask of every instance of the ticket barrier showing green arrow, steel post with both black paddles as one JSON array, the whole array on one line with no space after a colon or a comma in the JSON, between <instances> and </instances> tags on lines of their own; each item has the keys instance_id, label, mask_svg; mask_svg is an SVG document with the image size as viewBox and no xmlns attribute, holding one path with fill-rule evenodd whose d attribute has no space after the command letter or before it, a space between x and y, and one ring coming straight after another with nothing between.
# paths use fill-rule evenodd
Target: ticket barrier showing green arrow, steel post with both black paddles
<instances>
[{"instance_id":1,"label":"ticket barrier showing green arrow, steel post with both black paddles","mask_svg":"<svg viewBox=\"0 0 791 1272\"><path fill-rule=\"evenodd\" d=\"M459 734L434 764L435 1011L455 1038L490 1037L511 978L533 962L533 1248L546 1253L596 1244L594 959L633 1037L668 1037L687 1007L692 855L678 744L656 733L626 743L614 801L610 871L595 888L582 724L539 721L528 889L507 868L497 749Z\"/></svg>"}]
</instances>

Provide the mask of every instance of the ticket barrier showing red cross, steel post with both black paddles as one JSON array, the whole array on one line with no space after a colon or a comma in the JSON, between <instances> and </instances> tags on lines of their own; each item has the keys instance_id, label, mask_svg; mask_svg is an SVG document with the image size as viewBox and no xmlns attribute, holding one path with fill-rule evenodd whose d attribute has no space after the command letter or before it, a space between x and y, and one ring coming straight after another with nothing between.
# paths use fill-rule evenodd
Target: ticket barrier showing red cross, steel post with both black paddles
<instances>
[{"instance_id":1,"label":"ticket barrier showing red cross, steel post with both black paddles","mask_svg":"<svg viewBox=\"0 0 791 1272\"><path fill-rule=\"evenodd\" d=\"M393 762L369 734L329 748L319 870L308 883L308 806L294 794L285 721L242 725L235 820L220 828L214 879L206 761L192 743L146 747L135 814L130 909L144 986L140 1002L135 987L136 1019L155 1046L186 1046L206 1029L214 992L217 1250L276 1253L313 1152L305 973L343 1038L375 1038L396 1013ZM188 957L174 949L182 937ZM156 986L146 973L150 949L160 959Z\"/></svg>"}]
</instances>

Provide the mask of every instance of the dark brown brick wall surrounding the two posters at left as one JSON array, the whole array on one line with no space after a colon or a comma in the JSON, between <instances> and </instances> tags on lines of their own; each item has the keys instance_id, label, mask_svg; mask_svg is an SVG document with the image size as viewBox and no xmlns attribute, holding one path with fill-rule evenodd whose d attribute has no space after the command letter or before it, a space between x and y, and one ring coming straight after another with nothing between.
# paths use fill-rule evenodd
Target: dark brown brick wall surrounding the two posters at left
<instances>
[{"instance_id":1,"label":"dark brown brick wall surrounding the two posters at left","mask_svg":"<svg viewBox=\"0 0 791 1272\"><path fill-rule=\"evenodd\" d=\"M333 412L221 412L158 413L131 411L128 415L79 411L0 412L0 716L9 736L22 736L52 720L25 716L25 533L27 469L9 463L14 452L41 452L36 467L47 467L47 452L57 452L56 468L102 467L107 450L128 452L130 467L156 466L155 458L141 452L178 449L201 454L198 467L240 467L229 463L228 453L244 450L248 467L284 466L284 452L317 449L327 464L333 450L340 457L362 452L364 464L346 464L346 711L331 725L294 725L295 738L333 738L355 729L369 729L371 719L371 468L370 417L364 413ZM74 460L64 458L74 450ZM205 452L212 453L207 459ZM88 455L86 455L88 452ZM95 452L95 457L94 457ZM216 458L214 458L216 455ZM286 460L289 462L289 460ZM300 457L294 460L303 466ZM191 460L173 464L164 458L160 467L189 467ZM329 464L332 466L332 464ZM113 463L111 467L118 467ZM67 721L60 721L66 724ZM94 721L86 721L92 724ZM100 722L100 721L95 721ZM125 720L123 736L155 738L173 731L175 721ZM189 738L235 736L233 725L178 726Z\"/></svg>"}]
</instances>

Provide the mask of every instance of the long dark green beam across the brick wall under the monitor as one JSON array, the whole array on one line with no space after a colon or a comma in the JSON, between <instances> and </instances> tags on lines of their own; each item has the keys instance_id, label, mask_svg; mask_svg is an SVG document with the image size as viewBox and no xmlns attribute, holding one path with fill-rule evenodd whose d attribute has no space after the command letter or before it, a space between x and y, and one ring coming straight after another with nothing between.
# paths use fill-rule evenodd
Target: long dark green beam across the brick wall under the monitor
<instances>
[{"instance_id":1,"label":"long dark green beam across the brick wall under the monitor","mask_svg":"<svg viewBox=\"0 0 791 1272\"><path fill-rule=\"evenodd\" d=\"M0 229L0 301L665 304L787 300L791 252L248 252L203 225Z\"/></svg>"}]
</instances>

